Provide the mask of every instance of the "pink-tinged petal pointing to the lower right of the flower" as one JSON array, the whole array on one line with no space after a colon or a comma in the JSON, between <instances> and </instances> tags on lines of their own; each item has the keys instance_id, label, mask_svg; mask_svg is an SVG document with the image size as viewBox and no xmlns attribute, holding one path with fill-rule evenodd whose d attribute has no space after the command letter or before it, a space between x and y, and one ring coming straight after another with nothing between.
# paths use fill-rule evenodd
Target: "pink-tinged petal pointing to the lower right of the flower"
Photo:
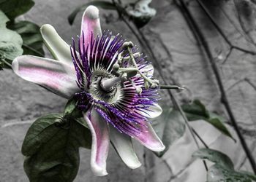
<instances>
[{"instance_id":1,"label":"pink-tinged petal pointing to the lower right of the flower","mask_svg":"<svg viewBox=\"0 0 256 182\"><path fill-rule=\"evenodd\" d=\"M140 134L130 134L132 137L134 137L137 141L143 144L143 146L146 146L146 148L150 149L151 151L163 151L165 150L165 146L160 140L160 138L157 136L156 132L154 132L153 127L151 127L151 124L149 124L147 121L141 122L140 130L143 130L143 132L140 132Z\"/></svg>"}]
</instances>

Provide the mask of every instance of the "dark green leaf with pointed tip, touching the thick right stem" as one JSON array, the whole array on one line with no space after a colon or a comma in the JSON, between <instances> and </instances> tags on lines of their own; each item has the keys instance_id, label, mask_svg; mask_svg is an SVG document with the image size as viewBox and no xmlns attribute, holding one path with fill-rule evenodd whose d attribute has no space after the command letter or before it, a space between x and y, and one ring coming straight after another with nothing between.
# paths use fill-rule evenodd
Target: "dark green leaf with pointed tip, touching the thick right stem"
<instances>
[{"instance_id":1,"label":"dark green leaf with pointed tip, touching the thick right stem","mask_svg":"<svg viewBox=\"0 0 256 182\"><path fill-rule=\"evenodd\" d=\"M224 124L225 118L208 111L206 109L206 106L204 106L203 103L200 102L200 100L194 100L191 104L184 104L183 106L181 106L181 108L185 112L189 121L192 122L202 119L203 121L208 122L209 124L217 128L217 130L222 132L222 134L227 135L228 137L236 141Z\"/></svg>"}]
</instances>

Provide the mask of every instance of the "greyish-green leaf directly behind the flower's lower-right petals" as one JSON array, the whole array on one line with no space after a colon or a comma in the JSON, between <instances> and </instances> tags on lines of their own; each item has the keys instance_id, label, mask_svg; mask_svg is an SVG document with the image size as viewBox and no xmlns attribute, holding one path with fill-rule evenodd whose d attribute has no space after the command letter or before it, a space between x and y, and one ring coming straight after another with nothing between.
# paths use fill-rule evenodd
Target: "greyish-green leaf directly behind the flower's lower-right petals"
<instances>
[{"instance_id":1,"label":"greyish-green leaf directly behind the flower's lower-right petals","mask_svg":"<svg viewBox=\"0 0 256 182\"><path fill-rule=\"evenodd\" d=\"M175 109L164 108L162 114L157 117L152 126L165 145L164 151L155 153L158 157L162 157L170 148L170 145L181 138L185 132L184 119L180 112Z\"/></svg>"}]
</instances>

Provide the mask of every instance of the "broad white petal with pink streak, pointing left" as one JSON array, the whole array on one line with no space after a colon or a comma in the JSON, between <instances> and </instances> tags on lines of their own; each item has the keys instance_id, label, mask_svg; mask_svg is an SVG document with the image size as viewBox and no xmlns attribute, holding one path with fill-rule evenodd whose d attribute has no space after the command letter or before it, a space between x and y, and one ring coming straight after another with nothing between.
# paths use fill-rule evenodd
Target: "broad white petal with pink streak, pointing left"
<instances>
[{"instance_id":1,"label":"broad white petal with pink streak, pointing left","mask_svg":"<svg viewBox=\"0 0 256 182\"><path fill-rule=\"evenodd\" d=\"M74 67L57 60L22 55L12 61L12 70L21 78L64 98L70 98L79 91Z\"/></svg>"}]
</instances>

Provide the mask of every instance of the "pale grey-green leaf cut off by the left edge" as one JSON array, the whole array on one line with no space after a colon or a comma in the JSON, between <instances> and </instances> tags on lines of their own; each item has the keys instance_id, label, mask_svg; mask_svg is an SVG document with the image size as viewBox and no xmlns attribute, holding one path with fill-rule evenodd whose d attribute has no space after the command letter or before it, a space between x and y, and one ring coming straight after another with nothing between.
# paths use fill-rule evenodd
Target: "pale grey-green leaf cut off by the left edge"
<instances>
[{"instance_id":1,"label":"pale grey-green leaf cut off by the left edge","mask_svg":"<svg viewBox=\"0 0 256 182\"><path fill-rule=\"evenodd\" d=\"M11 63L11 61L22 55L23 49L21 45L23 43L21 36L15 31L11 31L6 28L6 23L9 21L6 15L0 11L0 62Z\"/></svg>"}]
</instances>

